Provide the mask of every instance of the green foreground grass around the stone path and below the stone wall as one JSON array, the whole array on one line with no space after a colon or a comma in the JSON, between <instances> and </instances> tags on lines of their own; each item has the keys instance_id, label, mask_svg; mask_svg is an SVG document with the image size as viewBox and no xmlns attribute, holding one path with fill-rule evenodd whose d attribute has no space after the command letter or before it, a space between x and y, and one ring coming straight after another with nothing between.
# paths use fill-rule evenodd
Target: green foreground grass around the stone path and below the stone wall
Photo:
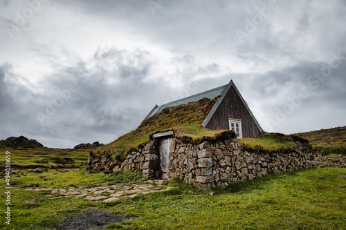
<instances>
[{"instance_id":1,"label":"green foreground grass around the stone path and below the stone wall","mask_svg":"<svg viewBox=\"0 0 346 230\"><path fill-rule=\"evenodd\" d=\"M119 175L84 175L69 171L53 177L46 172L54 187L66 188L69 182L76 186L98 186L113 180L126 182L135 173ZM26 178L50 184L28 173ZM4 221L1 229L53 229L62 218L78 215L91 207L113 209L134 217L122 223L110 224L104 229L346 229L346 169L313 168L291 173L266 175L256 180L233 184L226 189L209 191L173 180L177 188L170 191L120 198L116 202L91 202L83 198L48 199L46 191L12 190L12 219L10 228ZM16 187L26 178L17 178ZM70 180L71 179L71 180ZM138 178L139 179L139 178ZM63 182L66 181L66 182ZM0 189L1 213L6 209L4 189ZM37 206L24 204L35 199Z\"/></svg>"}]
</instances>

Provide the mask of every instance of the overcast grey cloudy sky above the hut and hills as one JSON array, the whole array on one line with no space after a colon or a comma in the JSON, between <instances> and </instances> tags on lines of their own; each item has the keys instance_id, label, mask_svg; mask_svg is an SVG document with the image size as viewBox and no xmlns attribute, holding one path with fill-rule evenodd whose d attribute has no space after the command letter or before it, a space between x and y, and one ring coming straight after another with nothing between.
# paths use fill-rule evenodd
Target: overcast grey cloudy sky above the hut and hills
<instances>
[{"instance_id":1,"label":"overcast grey cloudy sky above the hut and hills","mask_svg":"<svg viewBox=\"0 0 346 230\"><path fill-rule=\"evenodd\" d=\"M346 125L345 0L0 0L0 25L0 140L106 144L230 79L265 131Z\"/></svg>"}]
</instances>

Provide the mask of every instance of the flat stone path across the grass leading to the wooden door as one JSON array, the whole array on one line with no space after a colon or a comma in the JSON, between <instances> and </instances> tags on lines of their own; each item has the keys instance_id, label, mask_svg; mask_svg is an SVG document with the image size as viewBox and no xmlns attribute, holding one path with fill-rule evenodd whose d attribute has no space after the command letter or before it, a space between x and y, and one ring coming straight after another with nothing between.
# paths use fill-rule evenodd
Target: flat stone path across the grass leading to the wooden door
<instances>
[{"instance_id":1,"label":"flat stone path across the grass leading to the wooden door","mask_svg":"<svg viewBox=\"0 0 346 230\"><path fill-rule=\"evenodd\" d=\"M120 197L134 198L139 194L154 193L172 189L170 186L165 186L165 184L167 184L166 180L147 180L146 182L148 182L148 184L131 184L130 186L116 184L93 187L91 189L84 189L84 187L80 186L78 189L74 187L70 187L69 189L55 189L53 187L49 187L40 189L30 188L24 189L24 191L51 191L51 194L45 195L50 199L73 196L76 198L85 197L86 200L111 202L118 200Z\"/></svg>"}]
</instances>

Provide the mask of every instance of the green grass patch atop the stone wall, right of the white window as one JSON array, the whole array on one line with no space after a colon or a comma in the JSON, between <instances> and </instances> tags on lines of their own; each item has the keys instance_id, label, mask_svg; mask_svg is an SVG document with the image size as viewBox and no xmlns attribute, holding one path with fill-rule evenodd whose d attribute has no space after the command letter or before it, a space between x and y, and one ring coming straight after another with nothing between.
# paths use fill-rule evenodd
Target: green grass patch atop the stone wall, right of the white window
<instances>
[{"instance_id":1,"label":"green grass patch atop the stone wall, right of the white window","mask_svg":"<svg viewBox=\"0 0 346 230\"><path fill-rule=\"evenodd\" d=\"M251 148L262 148L267 151L282 151L295 147L293 142L284 141L271 133L254 138L239 139L238 141Z\"/></svg>"}]
</instances>

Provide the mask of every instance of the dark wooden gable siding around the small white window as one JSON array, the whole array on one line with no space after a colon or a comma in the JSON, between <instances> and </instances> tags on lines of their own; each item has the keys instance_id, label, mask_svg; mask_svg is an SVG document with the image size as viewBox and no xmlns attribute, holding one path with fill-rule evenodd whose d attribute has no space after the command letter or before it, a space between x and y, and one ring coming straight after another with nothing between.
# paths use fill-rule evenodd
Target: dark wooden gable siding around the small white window
<instances>
[{"instance_id":1,"label":"dark wooden gable siding around the small white window","mask_svg":"<svg viewBox=\"0 0 346 230\"><path fill-rule=\"evenodd\" d=\"M260 130L257 128L253 118L248 113L242 100L239 98L235 89L230 87L219 107L212 115L206 128L211 130L230 129L228 118L242 119L243 138L257 137Z\"/></svg>"}]
</instances>

